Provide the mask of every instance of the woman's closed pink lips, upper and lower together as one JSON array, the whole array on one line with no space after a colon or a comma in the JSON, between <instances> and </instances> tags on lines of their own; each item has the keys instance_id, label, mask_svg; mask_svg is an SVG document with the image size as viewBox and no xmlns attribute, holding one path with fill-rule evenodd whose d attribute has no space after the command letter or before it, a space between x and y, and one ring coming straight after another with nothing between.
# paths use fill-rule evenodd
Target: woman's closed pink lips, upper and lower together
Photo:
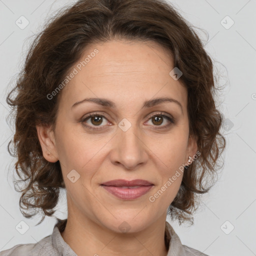
<instances>
[{"instance_id":1,"label":"woman's closed pink lips, upper and lower together","mask_svg":"<svg viewBox=\"0 0 256 256\"><path fill-rule=\"evenodd\" d=\"M101 186L118 198L131 200L145 194L153 184L143 179L114 179L102 183Z\"/></svg>"}]
</instances>

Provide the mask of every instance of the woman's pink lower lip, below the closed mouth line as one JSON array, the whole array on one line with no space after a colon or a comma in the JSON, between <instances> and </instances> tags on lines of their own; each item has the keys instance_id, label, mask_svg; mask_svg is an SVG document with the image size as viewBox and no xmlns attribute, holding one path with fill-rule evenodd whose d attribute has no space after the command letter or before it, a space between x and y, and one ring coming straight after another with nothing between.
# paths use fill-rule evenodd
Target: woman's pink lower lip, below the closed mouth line
<instances>
[{"instance_id":1,"label":"woman's pink lower lip, below the closed mouth line","mask_svg":"<svg viewBox=\"0 0 256 256\"><path fill-rule=\"evenodd\" d=\"M131 199L136 199L139 196L147 193L153 185L138 186L134 188L132 188L132 186L131 187L105 186L105 185L101 185L101 186L118 198L131 200Z\"/></svg>"}]
</instances>

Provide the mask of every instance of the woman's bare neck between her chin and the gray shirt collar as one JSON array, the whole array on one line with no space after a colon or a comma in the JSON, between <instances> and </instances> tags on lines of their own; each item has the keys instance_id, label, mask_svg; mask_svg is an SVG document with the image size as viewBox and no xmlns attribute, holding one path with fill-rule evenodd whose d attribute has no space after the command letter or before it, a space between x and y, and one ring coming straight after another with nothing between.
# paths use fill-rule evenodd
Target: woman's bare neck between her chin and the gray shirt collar
<instances>
[{"instance_id":1,"label":"woman's bare neck between her chin and the gray shirt collar","mask_svg":"<svg viewBox=\"0 0 256 256\"><path fill-rule=\"evenodd\" d=\"M79 256L166 256L163 217L139 232L116 233L84 216L68 213L65 229L60 233Z\"/></svg>"}]
</instances>

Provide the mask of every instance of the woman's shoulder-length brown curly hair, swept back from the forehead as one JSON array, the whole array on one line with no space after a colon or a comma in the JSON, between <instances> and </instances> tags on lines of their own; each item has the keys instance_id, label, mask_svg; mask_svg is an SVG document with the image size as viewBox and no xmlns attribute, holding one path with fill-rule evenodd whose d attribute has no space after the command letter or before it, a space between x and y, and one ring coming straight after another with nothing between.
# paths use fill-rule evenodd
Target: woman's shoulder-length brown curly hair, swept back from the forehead
<instances>
[{"instance_id":1,"label":"woman's shoulder-length brown curly hair, swept back from the forehead","mask_svg":"<svg viewBox=\"0 0 256 256\"><path fill-rule=\"evenodd\" d=\"M182 71L179 81L188 92L189 134L196 138L200 157L184 169L180 188L168 208L171 219L193 223L198 198L214 183L218 160L225 147L219 130L223 116L216 109L211 58L188 21L164 0L78 0L60 9L32 41L24 66L6 101L14 111L13 152L15 170L23 188L21 213L30 218L40 210L42 222L55 209L60 188L65 188L59 161L42 155L36 125L55 127L61 91L51 93L72 65L93 43L112 39L154 41L168 49L173 65ZM11 94L17 91L14 98ZM10 113L10 114L11 114ZM204 178L208 178L204 182ZM212 184L209 184L211 181ZM38 223L38 224L39 224Z\"/></svg>"}]
</instances>

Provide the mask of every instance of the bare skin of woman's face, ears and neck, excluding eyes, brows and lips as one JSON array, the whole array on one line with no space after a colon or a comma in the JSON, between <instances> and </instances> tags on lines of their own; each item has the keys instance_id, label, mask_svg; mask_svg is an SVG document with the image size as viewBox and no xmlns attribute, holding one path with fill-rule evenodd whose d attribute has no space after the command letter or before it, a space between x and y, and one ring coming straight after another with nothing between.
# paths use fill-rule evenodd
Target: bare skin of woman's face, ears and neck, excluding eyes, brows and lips
<instances>
[{"instance_id":1,"label":"bare skin of woman's face, ears and neck, excluding eyes, brows and lips","mask_svg":"<svg viewBox=\"0 0 256 256\"><path fill-rule=\"evenodd\" d=\"M78 255L166 255L166 213L182 172L154 202L149 196L197 151L188 136L186 88L169 75L172 58L154 42L95 44L81 60L94 48L99 52L61 91L55 131L36 127L43 156L60 161L66 186L68 217L61 235ZM83 102L72 108L90 97L109 99L116 107ZM174 98L182 110L168 101L142 108L145 100L156 97ZM102 121L97 124L89 117L84 123L100 129L84 127L82 117L95 112L105 114ZM160 112L175 122L161 119ZM126 131L118 126L123 118L131 124ZM74 183L67 178L72 169L80 175ZM119 178L146 179L154 186L132 200L119 199L100 186ZM130 228L125 233L118 228L123 221Z\"/></svg>"}]
</instances>

